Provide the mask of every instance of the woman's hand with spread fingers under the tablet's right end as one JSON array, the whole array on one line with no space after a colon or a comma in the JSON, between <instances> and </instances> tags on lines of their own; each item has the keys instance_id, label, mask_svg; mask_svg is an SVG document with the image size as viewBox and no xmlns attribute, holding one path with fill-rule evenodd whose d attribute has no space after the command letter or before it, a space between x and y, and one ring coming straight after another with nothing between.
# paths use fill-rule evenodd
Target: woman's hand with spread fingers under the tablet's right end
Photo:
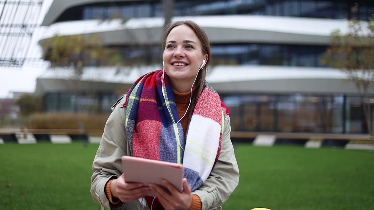
<instances>
[{"instance_id":1,"label":"woman's hand with spread fingers under the tablet's right end","mask_svg":"<svg viewBox=\"0 0 374 210\"><path fill-rule=\"evenodd\" d=\"M192 203L191 188L187 184L187 179L183 179L183 190L179 192L170 182L162 180L162 183L168 188L165 191L161 186L151 183L150 189L159 198L161 205L165 210L188 210Z\"/></svg>"}]
</instances>

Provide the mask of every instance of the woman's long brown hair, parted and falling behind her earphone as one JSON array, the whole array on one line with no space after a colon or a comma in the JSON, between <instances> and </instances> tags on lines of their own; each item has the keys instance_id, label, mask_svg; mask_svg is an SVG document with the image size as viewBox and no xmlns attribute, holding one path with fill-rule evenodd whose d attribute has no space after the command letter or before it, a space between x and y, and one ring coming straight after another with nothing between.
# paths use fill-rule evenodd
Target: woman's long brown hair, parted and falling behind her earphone
<instances>
[{"instance_id":1,"label":"woman's long brown hair, parted and falling behind her earphone","mask_svg":"<svg viewBox=\"0 0 374 210\"><path fill-rule=\"evenodd\" d=\"M204 65L203 69L201 71L199 71L199 75L196 78L196 92L201 92L201 90L203 88L203 85L205 83L206 73L208 72L208 64L209 64L209 61L212 58L208 36L206 35L205 31L193 21L172 22L172 23L166 25L166 27L165 27L165 33L164 33L163 39L162 39L162 49L163 50L165 50L166 38L168 38L168 35L169 35L170 31L173 28L175 28L179 25L187 25L188 27L190 27L194 31L197 38L199 38L199 40L200 40L203 55L205 55L205 54L208 55L208 61L206 61L206 64Z\"/></svg>"}]
</instances>

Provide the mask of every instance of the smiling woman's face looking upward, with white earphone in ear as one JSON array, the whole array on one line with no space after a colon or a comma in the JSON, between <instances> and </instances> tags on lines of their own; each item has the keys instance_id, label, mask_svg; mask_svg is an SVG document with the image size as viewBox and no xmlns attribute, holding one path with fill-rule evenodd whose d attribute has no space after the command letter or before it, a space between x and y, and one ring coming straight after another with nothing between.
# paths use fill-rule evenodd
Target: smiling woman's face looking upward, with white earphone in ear
<instances>
[{"instance_id":1,"label":"smiling woman's face looking upward, with white earphone in ear","mask_svg":"<svg viewBox=\"0 0 374 210\"><path fill-rule=\"evenodd\" d=\"M173 28L166 38L163 52L164 68L172 84L193 83L203 59L201 43L194 31L187 25Z\"/></svg>"}]
</instances>

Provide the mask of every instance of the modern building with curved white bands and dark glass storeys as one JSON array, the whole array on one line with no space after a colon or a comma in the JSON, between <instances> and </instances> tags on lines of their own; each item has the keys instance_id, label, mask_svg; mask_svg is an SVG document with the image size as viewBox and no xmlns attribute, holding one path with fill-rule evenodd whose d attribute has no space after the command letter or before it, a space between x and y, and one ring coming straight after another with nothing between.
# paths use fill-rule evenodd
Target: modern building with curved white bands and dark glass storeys
<instances>
[{"instance_id":1,"label":"modern building with curved white bands and dark glass storeys","mask_svg":"<svg viewBox=\"0 0 374 210\"><path fill-rule=\"evenodd\" d=\"M373 16L374 1L175 0L174 7L173 21L197 22L211 41L207 80L231 107L233 130L367 132L355 86L321 56L330 33L347 29L344 19ZM90 67L79 94L66 77L47 71L36 89L45 111L110 111L136 78L161 67L163 22L160 0L53 1L39 41L44 50L55 33L97 34L128 67Z\"/></svg>"}]
</instances>

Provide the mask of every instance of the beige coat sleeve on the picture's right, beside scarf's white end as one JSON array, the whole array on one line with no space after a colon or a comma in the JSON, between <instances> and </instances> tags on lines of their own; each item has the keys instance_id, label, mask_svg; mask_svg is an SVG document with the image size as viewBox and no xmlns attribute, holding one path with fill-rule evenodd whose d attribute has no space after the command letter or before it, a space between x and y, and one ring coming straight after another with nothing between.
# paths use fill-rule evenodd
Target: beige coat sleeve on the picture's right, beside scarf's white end
<instances>
[{"instance_id":1,"label":"beige coat sleeve on the picture's right, beside scarf's white end","mask_svg":"<svg viewBox=\"0 0 374 210\"><path fill-rule=\"evenodd\" d=\"M230 138L230 117L225 116L222 134L221 154L208 176L199 189L192 192L200 197L202 210L222 205L239 184L239 168L237 166L234 148Z\"/></svg>"}]
</instances>

